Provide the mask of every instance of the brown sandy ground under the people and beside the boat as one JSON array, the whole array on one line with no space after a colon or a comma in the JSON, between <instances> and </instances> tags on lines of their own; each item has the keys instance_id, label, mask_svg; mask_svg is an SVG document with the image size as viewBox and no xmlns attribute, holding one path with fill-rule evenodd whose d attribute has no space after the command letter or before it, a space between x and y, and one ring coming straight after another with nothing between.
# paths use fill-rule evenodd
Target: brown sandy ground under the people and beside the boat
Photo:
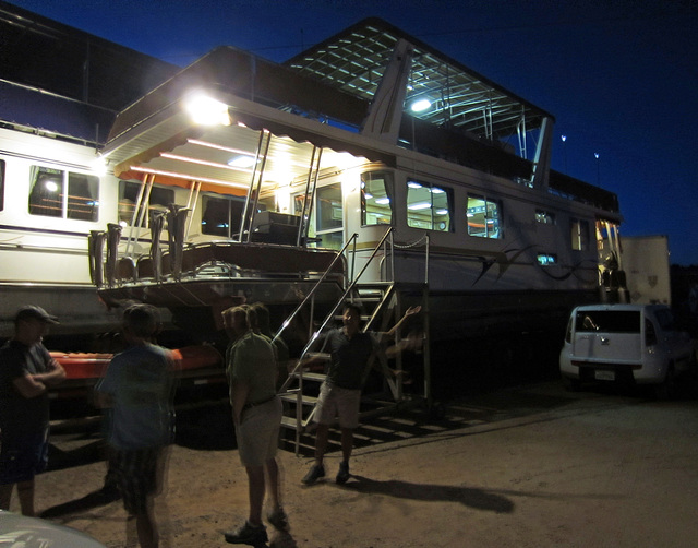
<instances>
[{"instance_id":1,"label":"brown sandy ground under the people and beside the boat","mask_svg":"<svg viewBox=\"0 0 698 548\"><path fill-rule=\"evenodd\" d=\"M695 547L697 407L545 382L452 403L438 421L383 417L358 432L346 486L334 483L337 451L310 487L311 458L279 453L291 529L269 527L270 546ZM209 420L201 428L215 436ZM222 531L245 516L237 451L198 445L172 448L161 546L226 546ZM121 504L91 495L104 472L92 462L40 476L37 508L108 547L135 546Z\"/></svg>"}]
</instances>

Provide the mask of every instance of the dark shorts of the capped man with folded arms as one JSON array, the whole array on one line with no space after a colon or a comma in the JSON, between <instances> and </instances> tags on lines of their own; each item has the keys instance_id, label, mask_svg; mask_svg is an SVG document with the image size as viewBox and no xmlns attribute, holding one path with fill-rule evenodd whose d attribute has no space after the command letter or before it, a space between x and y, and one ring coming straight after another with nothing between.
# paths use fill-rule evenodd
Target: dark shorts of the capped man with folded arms
<instances>
[{"instance_id":1,"label":"dark shorts of the capped man with folded arms","mask_svg":"<svg viewBox=\"0 0 698 548\"><path fill-rule=\"evenodd\" d=\"M48 427L40 432L0 432L0 485L31 481L48 465Z\"/></svg>"}]
</instances>

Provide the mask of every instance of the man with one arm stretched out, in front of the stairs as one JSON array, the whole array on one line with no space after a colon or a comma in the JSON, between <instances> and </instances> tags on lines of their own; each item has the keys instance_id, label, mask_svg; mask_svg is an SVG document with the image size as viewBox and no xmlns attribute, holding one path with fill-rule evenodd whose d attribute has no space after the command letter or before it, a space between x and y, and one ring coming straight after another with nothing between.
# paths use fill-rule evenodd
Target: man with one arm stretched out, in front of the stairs
<instances>
[{"instance_id":1,"label":"man with one arm stretched out, in front of the stairs","mask_svg":"<svg viewBox=\"0 0 698 548\"><path fill-rule=\"evenodd\" d=\"M314 421L315 463L301 480L312 485L325 476L323 458L327 449L329 426L339 418L341 430L341 456L339 472L335 481L345 484L349 479L349 458L353 449L353 431L359 426L359 407L361 388L369 359L378 344L388 338L411 315L419 313L421 307L411 307L393 329L386 333L361 331L361 308L356 303L347 303L342 311L342 326L334 329L324 337L324 346L329 349L330 362L327 378L320 389Z\"/></svg>"}]
</instances>

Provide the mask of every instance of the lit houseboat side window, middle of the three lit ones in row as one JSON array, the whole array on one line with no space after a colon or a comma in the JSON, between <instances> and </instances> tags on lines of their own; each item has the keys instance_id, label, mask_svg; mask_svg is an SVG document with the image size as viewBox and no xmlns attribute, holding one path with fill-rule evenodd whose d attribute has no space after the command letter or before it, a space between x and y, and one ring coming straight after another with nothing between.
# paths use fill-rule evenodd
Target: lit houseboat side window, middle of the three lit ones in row
<instances>
[{"instance_id":1,"label":"lit houseboat side window, middle of the three lit ones in row","mask_svg":"<svg viewBox=\"0 0 698 548\"><path fill-rule=\"evenodd\" d=\"M448 233L453 229L453 191L421 181L407 181L407 225Z\"/></svg>"}]
</instances>

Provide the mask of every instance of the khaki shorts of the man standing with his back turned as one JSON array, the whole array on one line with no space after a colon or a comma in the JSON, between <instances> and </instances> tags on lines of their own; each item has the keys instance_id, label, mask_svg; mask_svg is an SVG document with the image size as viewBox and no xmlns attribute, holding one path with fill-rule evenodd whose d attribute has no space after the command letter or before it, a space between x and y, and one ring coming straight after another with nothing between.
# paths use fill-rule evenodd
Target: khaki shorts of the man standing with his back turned
<instances>
[{"instance_id":1,"label":"khaki shorts of the man standing with his back turned","mask_svg":"<svg viewBox=\"0 0 698 548\"><path fill-rule=\"evenodd\" d=\"M279 397L242 412L236 428L236 440L243 466L263 466L276 456L282 414Z\"/></svg>"}]
</instances>

